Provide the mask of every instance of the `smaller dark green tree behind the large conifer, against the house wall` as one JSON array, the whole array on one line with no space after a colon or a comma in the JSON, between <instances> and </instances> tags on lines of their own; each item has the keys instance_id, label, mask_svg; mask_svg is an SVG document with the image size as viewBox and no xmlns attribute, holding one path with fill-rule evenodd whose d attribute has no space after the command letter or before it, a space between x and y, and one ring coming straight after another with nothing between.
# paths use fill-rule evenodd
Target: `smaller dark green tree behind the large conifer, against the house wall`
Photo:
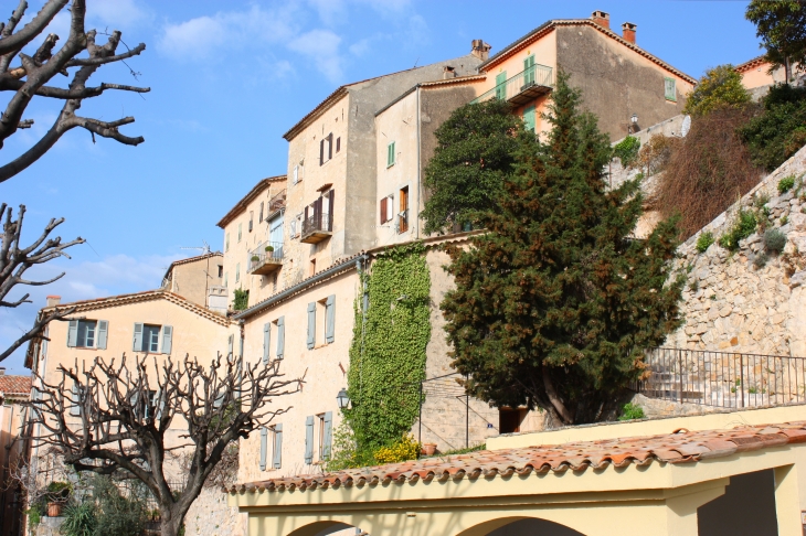
<instances>
[{"instance_id":1,"label":"smaller dark green tree behind the large conifer, against the house wall","mask_svg":"<svg viewBox=\"0 0 806 536\"><path fill-rule=\"evenodd\" d=\"M437 147L423 181L426 233L444 233L454 224L478 226L479 214L497 206L520 124L507 101L494 98L457 108L436 129Z\"/></svg>"}]
</instances>

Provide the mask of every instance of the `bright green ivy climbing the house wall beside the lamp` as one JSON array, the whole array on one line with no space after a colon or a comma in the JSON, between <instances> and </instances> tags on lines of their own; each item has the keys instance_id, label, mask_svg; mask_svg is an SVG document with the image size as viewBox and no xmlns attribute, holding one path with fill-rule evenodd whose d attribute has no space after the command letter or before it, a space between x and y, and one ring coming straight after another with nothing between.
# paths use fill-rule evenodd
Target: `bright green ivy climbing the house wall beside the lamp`
<instances>
[{"instance_id":1,"label":"bright green ivy climbing the house wall beside the lamp","mask_svg":"<svg viewBox=\"0 0 806 536\"><path fill-rule=\"evenodd\" d=\"M431 339L431 277L425 247L393 247L361 275L356 300L344 417L360 451L400 441L420 411Z\"/></svg>"}]
</instances>

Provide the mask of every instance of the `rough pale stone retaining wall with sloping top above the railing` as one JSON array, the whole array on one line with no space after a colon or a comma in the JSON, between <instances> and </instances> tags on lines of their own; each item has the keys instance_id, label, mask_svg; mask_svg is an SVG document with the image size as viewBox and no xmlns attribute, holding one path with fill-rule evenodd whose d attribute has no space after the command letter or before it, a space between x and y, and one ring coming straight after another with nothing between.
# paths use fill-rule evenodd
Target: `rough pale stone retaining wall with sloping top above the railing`
<instances>
[{"instance_id":1,"label":"rough pale stone retaining wall with sloping top above the railing","mask_svg":"<svg viewBox=\"0 0 806 536\"><path fill-rule=\"evenodd\" d=\"M678 268L688 272L686 323L668 337L667 346L806 356L805 174L806 148L680 246ZM789 175L795 176L795 187L778 194L778 182ZM766 228L786 235L781 255L767 254L763 261L760 231L741 240L736 251L719 245L740 208L753 211ZM715 243L699 253L697 240L707 232Z\"/></svg>"}]
</instances>

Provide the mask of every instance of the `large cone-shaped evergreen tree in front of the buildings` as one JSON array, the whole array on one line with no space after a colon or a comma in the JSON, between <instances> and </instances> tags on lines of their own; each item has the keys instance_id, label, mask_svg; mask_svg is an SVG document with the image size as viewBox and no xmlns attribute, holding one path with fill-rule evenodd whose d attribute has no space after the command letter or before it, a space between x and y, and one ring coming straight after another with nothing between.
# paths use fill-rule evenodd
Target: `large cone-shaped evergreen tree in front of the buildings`
<instances>
[{"instance_id":1,"label":"large cone-shaped evergreen tree in front of the buildings","mask_svg":"<svg viewBox=\"0 0 806 536\"><path fill-rule=\"evenodd\" d=\"M674 221L630 239L636 181L606 185L611 149L559 73L545 142L521 131L489 233L450 249L442 304L454 366L470 394L528 405L562 425L602 419L641 374L643 351L679 325Z\"/></svg>"}]
</instances>

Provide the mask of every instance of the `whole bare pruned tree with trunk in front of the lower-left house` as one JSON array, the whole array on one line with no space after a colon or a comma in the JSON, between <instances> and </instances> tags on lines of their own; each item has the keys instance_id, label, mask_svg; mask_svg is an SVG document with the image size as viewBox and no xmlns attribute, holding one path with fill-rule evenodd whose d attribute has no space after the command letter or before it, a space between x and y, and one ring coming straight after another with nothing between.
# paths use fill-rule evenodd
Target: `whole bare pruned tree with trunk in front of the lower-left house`
<instances>
[{"instance_id":1,"label":"whole bare pruned tree with trunk in front of the lower-left house","mask_svg":"<svg viewBox=\"0 0 806 536\"><path fill-rule=\"evenodd\" d=\"M279 361L252 365L232 354L219 355L209 367L170 356L149 366L147 358L96 357L81 371L76 362L75 368L60 367L52 384L38 376L33 440L77 471L144 482L159 503L161 534L174 536L227 446L285 414L289 408L273 406L276 398L299 390L304 378L285 379ZM169 444L168 431L176 429L187 429L180 436L185 443ZM166 454L181 449L192 458L187 483L174 496Z\"/></svg>"}]
</instances>

